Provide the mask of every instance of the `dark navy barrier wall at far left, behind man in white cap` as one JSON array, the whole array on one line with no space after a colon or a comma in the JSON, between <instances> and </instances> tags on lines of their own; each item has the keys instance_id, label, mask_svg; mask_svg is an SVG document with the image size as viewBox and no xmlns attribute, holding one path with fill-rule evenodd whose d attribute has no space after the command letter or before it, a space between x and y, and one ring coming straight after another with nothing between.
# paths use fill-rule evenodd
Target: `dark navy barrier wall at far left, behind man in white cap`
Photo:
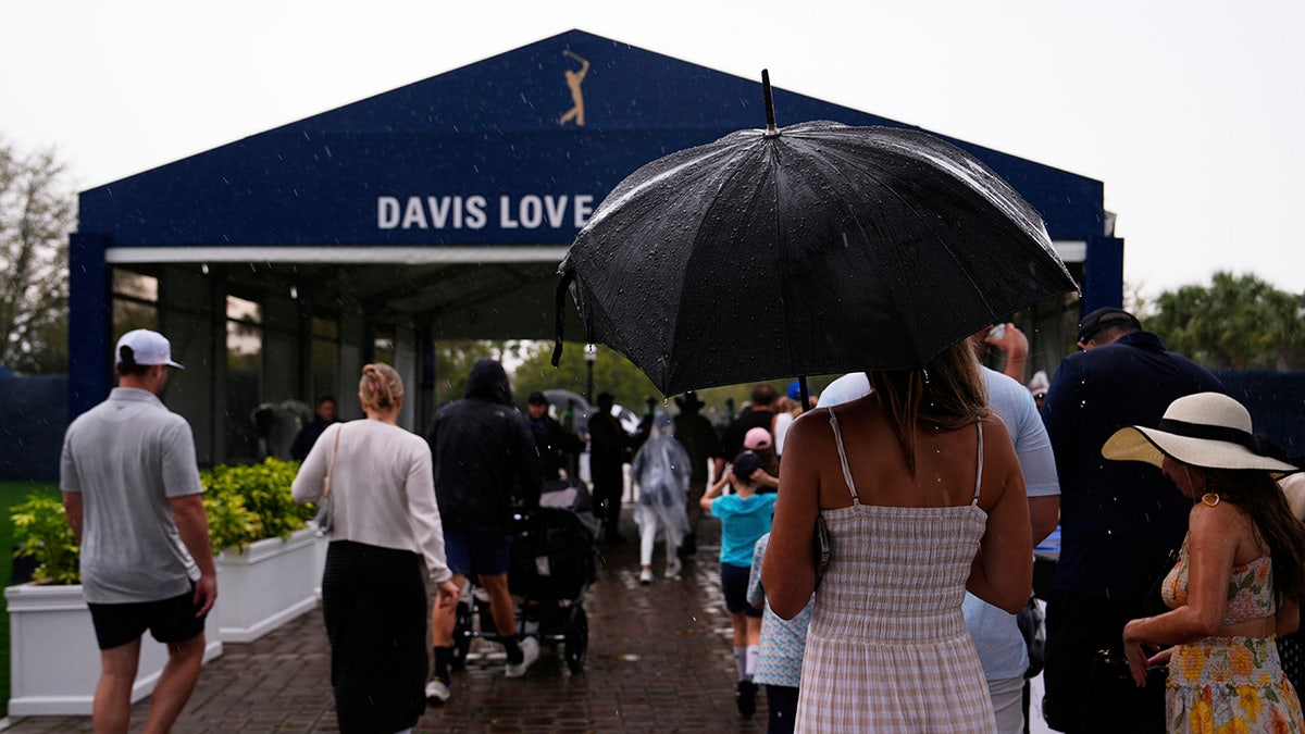
<instances>
[{"instance_id":1,"label":"dark navy barrier wall at far left, behind man in white cap","mask_svg":"<svg viewBox=\"0 0 1305 734\"><path fill-rule=\"evenodd\" d=\"M57 479L68 376L0 377L0 479Z\"/></svg>"}]
</instances>

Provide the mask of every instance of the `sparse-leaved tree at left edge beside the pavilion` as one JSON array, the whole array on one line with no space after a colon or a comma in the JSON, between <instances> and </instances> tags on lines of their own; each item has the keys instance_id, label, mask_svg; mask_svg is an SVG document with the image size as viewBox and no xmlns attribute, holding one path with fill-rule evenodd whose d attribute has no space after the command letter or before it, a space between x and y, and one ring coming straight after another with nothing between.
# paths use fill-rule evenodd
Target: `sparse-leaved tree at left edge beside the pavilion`
<instances>
[{"instance_id":1,"label":"sparse-leaved tree at left edge beside the pavilion","mask_svg":"<svg viewBox=\"0 0 1305 734\"><path fill-rule=\"evenodd\" d=\"M16 372L67 370L74 201L54 150L0 138L0 364Z\"/></svg>"}]
</instances>

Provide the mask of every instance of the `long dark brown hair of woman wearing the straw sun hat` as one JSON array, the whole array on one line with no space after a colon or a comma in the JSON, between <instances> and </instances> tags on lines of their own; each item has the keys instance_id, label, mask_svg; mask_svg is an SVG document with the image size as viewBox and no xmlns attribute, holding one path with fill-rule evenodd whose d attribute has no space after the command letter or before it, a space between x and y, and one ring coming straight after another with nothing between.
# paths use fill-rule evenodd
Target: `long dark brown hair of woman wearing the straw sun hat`
<instances>
[{"instance_id":1,"label":"long dark brown hair of woman wearing the straw sun hat","mask_svg":"<svg viewBox=\"0 0 1305 734\"><path fill-rule=\"evenodd\" d=\"M1216 492L1250 516L1255 532L1268 546L1274 564L1274 596L1279 602L1305 602L1305 522L1292 515L1287 495L1278 482L1259 469L1206 469L1199 471L1206 490Z\"/></svg>"}]
</instances>

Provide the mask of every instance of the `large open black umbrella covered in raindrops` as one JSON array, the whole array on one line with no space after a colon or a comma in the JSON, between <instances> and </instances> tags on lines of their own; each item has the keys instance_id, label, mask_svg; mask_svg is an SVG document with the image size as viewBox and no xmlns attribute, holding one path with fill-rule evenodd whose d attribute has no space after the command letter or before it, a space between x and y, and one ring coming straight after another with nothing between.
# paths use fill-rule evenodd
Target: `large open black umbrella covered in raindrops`
<instances>
[{"instance_id":1,"label":"large open black umbrella covered in raindrops","mask_svg":"<svg viewBox=\"0 0 1305 734\"><path fill-rule=\"evenodd\" d=\"M654 161L562 261L586 341L664 394L920 368L979 328L1075 290L1041 217L927 133L810 121ZM555 351L555 364L559 358Z\"/></svg>"}]
</instances>

